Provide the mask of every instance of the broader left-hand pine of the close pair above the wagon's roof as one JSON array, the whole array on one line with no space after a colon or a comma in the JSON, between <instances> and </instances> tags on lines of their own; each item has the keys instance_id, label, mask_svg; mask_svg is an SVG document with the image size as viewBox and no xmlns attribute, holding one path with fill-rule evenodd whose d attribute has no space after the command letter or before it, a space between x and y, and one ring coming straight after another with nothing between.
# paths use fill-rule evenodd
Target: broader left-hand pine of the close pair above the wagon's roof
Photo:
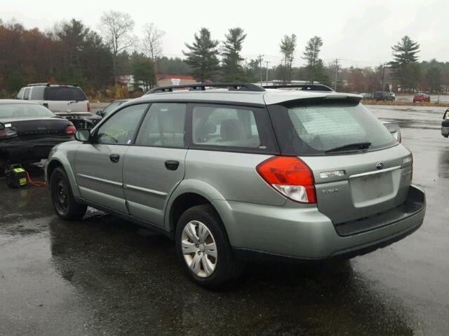
<instances>
[{"instance_id":1,"label":"broader left-hand pine of the close pair above the wagon's roof","mask_svg":"<svg viewBox=\"0 0 449 336\"><path fill-rule=\"evenodd\" d=\"M194 35L194 43L185 46L188 52L182 51L187 56L185 62L192 67L192 75L196 80L204 83L205 80L213 80L218 70L218 45L217 40L210 38L210 31L201 28L199 34Z\"/></svg>"}]
</instances>

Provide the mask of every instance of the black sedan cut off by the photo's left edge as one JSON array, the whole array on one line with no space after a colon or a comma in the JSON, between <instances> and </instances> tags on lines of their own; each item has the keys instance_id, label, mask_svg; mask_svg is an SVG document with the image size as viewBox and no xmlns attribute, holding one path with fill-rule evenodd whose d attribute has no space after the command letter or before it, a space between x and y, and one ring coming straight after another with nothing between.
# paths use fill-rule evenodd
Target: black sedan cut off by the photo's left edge
<instances>
[{"instance_id":1,"label":"black sedan cut off by the photo's left edge","mask_svg":"<svg viewBox=\"0 0 449 336\"><path fill-rule=\"evenodd\" d=\"M0 165L39 162L73 139L74 125L34 102L0 99Z\"/></svg>"}]
</instances>

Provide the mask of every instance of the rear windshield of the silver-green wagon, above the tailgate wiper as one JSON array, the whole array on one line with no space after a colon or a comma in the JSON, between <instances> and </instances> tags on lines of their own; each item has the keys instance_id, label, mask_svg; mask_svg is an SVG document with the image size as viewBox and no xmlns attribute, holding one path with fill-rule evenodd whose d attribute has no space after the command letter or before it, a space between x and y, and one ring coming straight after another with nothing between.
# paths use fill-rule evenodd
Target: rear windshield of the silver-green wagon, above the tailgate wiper
<instances>
[{"instance_id":1,"label":"rear windshield of the silver-green wagon, above the tailgate wiper","mask_svg":"<svg viewBox=\"0 0 449 336\"><path fill-rule=\"evenodd\" d=\"M286 155L345 154L333 150L370 143L368 151L396 144L382 123L358 102L314 101L269 106L276 137ZM354 152L354 148L351 149Z\"/></svg>"}]
</instances>

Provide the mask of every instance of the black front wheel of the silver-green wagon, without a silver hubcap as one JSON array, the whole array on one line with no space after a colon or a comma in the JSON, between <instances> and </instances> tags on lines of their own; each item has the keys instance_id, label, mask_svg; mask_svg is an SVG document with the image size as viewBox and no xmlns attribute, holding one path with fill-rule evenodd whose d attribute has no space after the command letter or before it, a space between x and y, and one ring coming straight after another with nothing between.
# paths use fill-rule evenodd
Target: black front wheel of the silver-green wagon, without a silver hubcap
<instances>
[{"instance_id":1,"label":"black front wheel of the silver-green wagon, without a silver hubcap","mask_svg":"<svg viewBox=\"0 0 449 336\"><path fill-rule=\"evenodd\" d=\"M75 201L67 174L55 168L50 178L51 202L55 212L65 221L76 221L86 214L87 206Z\"/></svg>"}]
</instances>

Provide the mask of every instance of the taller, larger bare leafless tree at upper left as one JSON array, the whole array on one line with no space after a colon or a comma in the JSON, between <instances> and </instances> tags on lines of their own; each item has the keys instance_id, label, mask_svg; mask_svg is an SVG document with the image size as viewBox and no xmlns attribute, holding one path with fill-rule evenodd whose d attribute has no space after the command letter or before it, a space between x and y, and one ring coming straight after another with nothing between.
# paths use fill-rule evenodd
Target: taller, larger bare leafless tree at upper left
<instances>
[{"instance_id":1,"label":"taller, larger bare leafless tree at upper left","mask_svg":"<svg viewBox=\"0 0 449 336\"><path fill-rule=\"evenodd\" d=\"M133 29L134 20L128 13L109 10L100 18L100 31L112 52L115 81L117 80L117 55L134 45Z\"/></svg>"}]
</instances>

